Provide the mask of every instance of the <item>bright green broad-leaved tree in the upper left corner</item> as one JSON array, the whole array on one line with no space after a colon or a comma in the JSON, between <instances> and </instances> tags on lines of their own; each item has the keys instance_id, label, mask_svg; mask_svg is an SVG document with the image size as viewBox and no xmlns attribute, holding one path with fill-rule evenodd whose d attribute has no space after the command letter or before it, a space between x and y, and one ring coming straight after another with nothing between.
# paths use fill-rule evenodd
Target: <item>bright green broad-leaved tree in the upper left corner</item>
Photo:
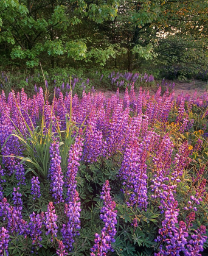
<instances>
[{"instance_id":1,"label":"bright green broad-leaved tree in the upper left corner","mask_svg":"<svg viewBox=\"0 0 208 256\"><path fill-rule=\"evenodd\" d=\"M6 43L12 59L26 61L29 68L47 57L52 67L60 56L85 59L89 38L78 32L83 20L102 23L116 13L117 0L2 0L0 44Z\"/></svg>"}]
</instances>

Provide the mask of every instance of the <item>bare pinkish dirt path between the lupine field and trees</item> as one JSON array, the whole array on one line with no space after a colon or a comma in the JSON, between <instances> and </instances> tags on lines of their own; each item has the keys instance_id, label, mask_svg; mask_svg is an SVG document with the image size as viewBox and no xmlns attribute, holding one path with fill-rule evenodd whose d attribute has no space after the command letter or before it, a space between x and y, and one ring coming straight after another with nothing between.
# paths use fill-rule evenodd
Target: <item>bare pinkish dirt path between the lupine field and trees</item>
<instances>
[{"instance_id":1,"label":"bare pinkish dirt path between the lupine field and trees","mask_svg":"<svg viewBox=\"0 0 208 256\"><path fill-rule=\"evenodd\" d=\"M172 81L165 81L165 82L169 83L169 82L172 82ZM157 91L157 87L146 87L144 89L145 90L150 90L150 94L154 94ZM115 91L109 91L109 90L105 91L103 89L100 89L100 90L97 89L96 90L96 92L99 92L99 91L104 93L106 98L110 98L112 94L116 93ZM203 81L200 81L200 80L192 80L190 82L176 81L174 91L175 91L175 98L177 98L177 96L179 94L181 94L182 92L184 94L188 93L190 96L192 96L193 93L195 93L195 91L197 91L197 95L201 96L205 91L208 91L207 82L203 82ZM135 93L136 93L136 97L137 97L138 94L139 94L139 91L135 90ZM120 91L120 97L123 98L123 96L124 96L124 92Z\"/></svg>"}]
</instances>

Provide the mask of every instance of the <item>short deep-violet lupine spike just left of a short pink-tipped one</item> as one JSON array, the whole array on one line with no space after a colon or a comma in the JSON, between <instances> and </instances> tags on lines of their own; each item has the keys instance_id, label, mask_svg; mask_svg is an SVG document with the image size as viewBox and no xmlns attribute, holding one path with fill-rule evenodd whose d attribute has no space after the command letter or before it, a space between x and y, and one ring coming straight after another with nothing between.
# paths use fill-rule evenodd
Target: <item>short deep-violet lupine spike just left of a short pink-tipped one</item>
<instances>
[{"instance_id":1,"label":"short deep-violet lupine spike just left of a short pink-tipped one","mask_svg":"<svg viewBox=\"0 0 208 256\"><path fill-rule=\"evenodd\" d=\"M30 237L32 238L32 244L35 244L36 246L42 247L41 245L41 233L42 233L42 228L43 226L43 219L41 215L33 212L30 214L30 222L29 222L29 230L30 230Z\"/></svg>"}]
</instances>

